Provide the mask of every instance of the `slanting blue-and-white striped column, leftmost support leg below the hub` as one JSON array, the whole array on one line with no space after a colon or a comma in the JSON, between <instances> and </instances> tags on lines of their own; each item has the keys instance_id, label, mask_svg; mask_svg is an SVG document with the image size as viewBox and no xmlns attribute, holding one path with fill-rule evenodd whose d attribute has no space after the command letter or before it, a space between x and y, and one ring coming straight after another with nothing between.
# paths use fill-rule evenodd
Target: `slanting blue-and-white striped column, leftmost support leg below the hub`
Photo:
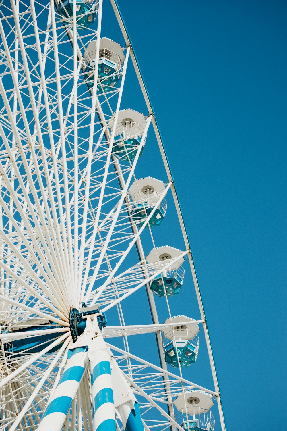
<instances>
[{"instance_id":1,"label":"slanting blue-and-white striped column, leftmost support leg below the hub","mask_svg":"<svg viewBox=\"0 0 287 431\"><path fill-rule=\"evenodd\" d=\"M87 350L87 346L84 346L68 351L68 362L46 406L37 431L61 431L89 363Z\"/></svg>"}]
</instances>

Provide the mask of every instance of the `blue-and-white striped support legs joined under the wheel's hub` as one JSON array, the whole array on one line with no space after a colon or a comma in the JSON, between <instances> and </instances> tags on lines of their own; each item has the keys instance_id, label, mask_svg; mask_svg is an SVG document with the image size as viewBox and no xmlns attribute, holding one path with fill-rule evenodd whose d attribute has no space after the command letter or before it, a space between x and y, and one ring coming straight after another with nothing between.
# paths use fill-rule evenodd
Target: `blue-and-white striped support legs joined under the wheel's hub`
<instances>
[{"instance_id":1,"label":"blue-and-white striped support legs joined under the wheel's hub","mask_svg":"<svg viewBox=\"0 0 287 431\"><path fill-rule=\"evenodd\" d=\"M105 343L96 319L88 319L83 337L68 350L68 362L37 430L62 429L88 364L93 431L116 431L115 411L126 431L144 431L136 397Z\"/></svg>"}]
</instances>

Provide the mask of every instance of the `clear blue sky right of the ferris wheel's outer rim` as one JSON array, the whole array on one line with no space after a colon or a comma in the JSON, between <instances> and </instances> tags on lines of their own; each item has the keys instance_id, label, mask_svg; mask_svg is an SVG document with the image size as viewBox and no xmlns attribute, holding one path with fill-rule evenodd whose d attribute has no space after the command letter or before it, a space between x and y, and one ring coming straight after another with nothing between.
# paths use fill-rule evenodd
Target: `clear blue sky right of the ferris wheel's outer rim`
<instances>
[{"instance_id":1,"label":"clear blue sky right of the ferris wheel's outer rim","mask_svg":"<svg viewBox=\"0 0 287 431\"><path fill-rule=\"evenodd\" d=\"M287 3L118 2L188 225L228 431L283 431Z\"/></svg>"}]
</instances>

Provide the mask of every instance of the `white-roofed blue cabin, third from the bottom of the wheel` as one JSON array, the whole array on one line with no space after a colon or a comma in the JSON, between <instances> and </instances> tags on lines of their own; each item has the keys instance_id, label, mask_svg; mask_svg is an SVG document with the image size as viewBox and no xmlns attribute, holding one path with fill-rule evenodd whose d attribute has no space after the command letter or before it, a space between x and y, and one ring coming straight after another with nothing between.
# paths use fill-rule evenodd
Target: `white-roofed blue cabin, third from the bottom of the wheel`
<instances>
[{"instance_id":1,"label":"white-roofed blue cabin, third from the bottom of the wheel","mask_svg":"<svg viewBox=\"0 0 287 431\"><path fill-rule=\"evenodd\" d=\"M184 278L181 251L170 246L156 247L148 253L147 261L152 269L161 270L168 263L170 266L150 282L150 289L160 297L171 297L179 293ZM179 258L176 262L175 259Z\"/></svg>"}]
</instances>

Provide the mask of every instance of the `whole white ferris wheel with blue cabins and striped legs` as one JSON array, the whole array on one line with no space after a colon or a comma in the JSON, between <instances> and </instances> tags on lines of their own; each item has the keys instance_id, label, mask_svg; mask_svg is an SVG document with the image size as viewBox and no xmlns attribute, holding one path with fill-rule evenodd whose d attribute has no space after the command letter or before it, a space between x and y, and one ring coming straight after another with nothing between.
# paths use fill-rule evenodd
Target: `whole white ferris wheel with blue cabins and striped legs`
<instances>
[{"instance_id":1,"label":"whole white ferris wheel with blue cabins and striped legs","mask_svg":"<svg viewBox=\"0 0 287 431\"><path fill-rule=\"evenodd\" d=\"M225 431L185 223L117 2L0 1L0 37L0 431ZM173 312L188 277L191 316ZM190 381L199 340L211 388Z\"/></svg>"}]
</instances>

